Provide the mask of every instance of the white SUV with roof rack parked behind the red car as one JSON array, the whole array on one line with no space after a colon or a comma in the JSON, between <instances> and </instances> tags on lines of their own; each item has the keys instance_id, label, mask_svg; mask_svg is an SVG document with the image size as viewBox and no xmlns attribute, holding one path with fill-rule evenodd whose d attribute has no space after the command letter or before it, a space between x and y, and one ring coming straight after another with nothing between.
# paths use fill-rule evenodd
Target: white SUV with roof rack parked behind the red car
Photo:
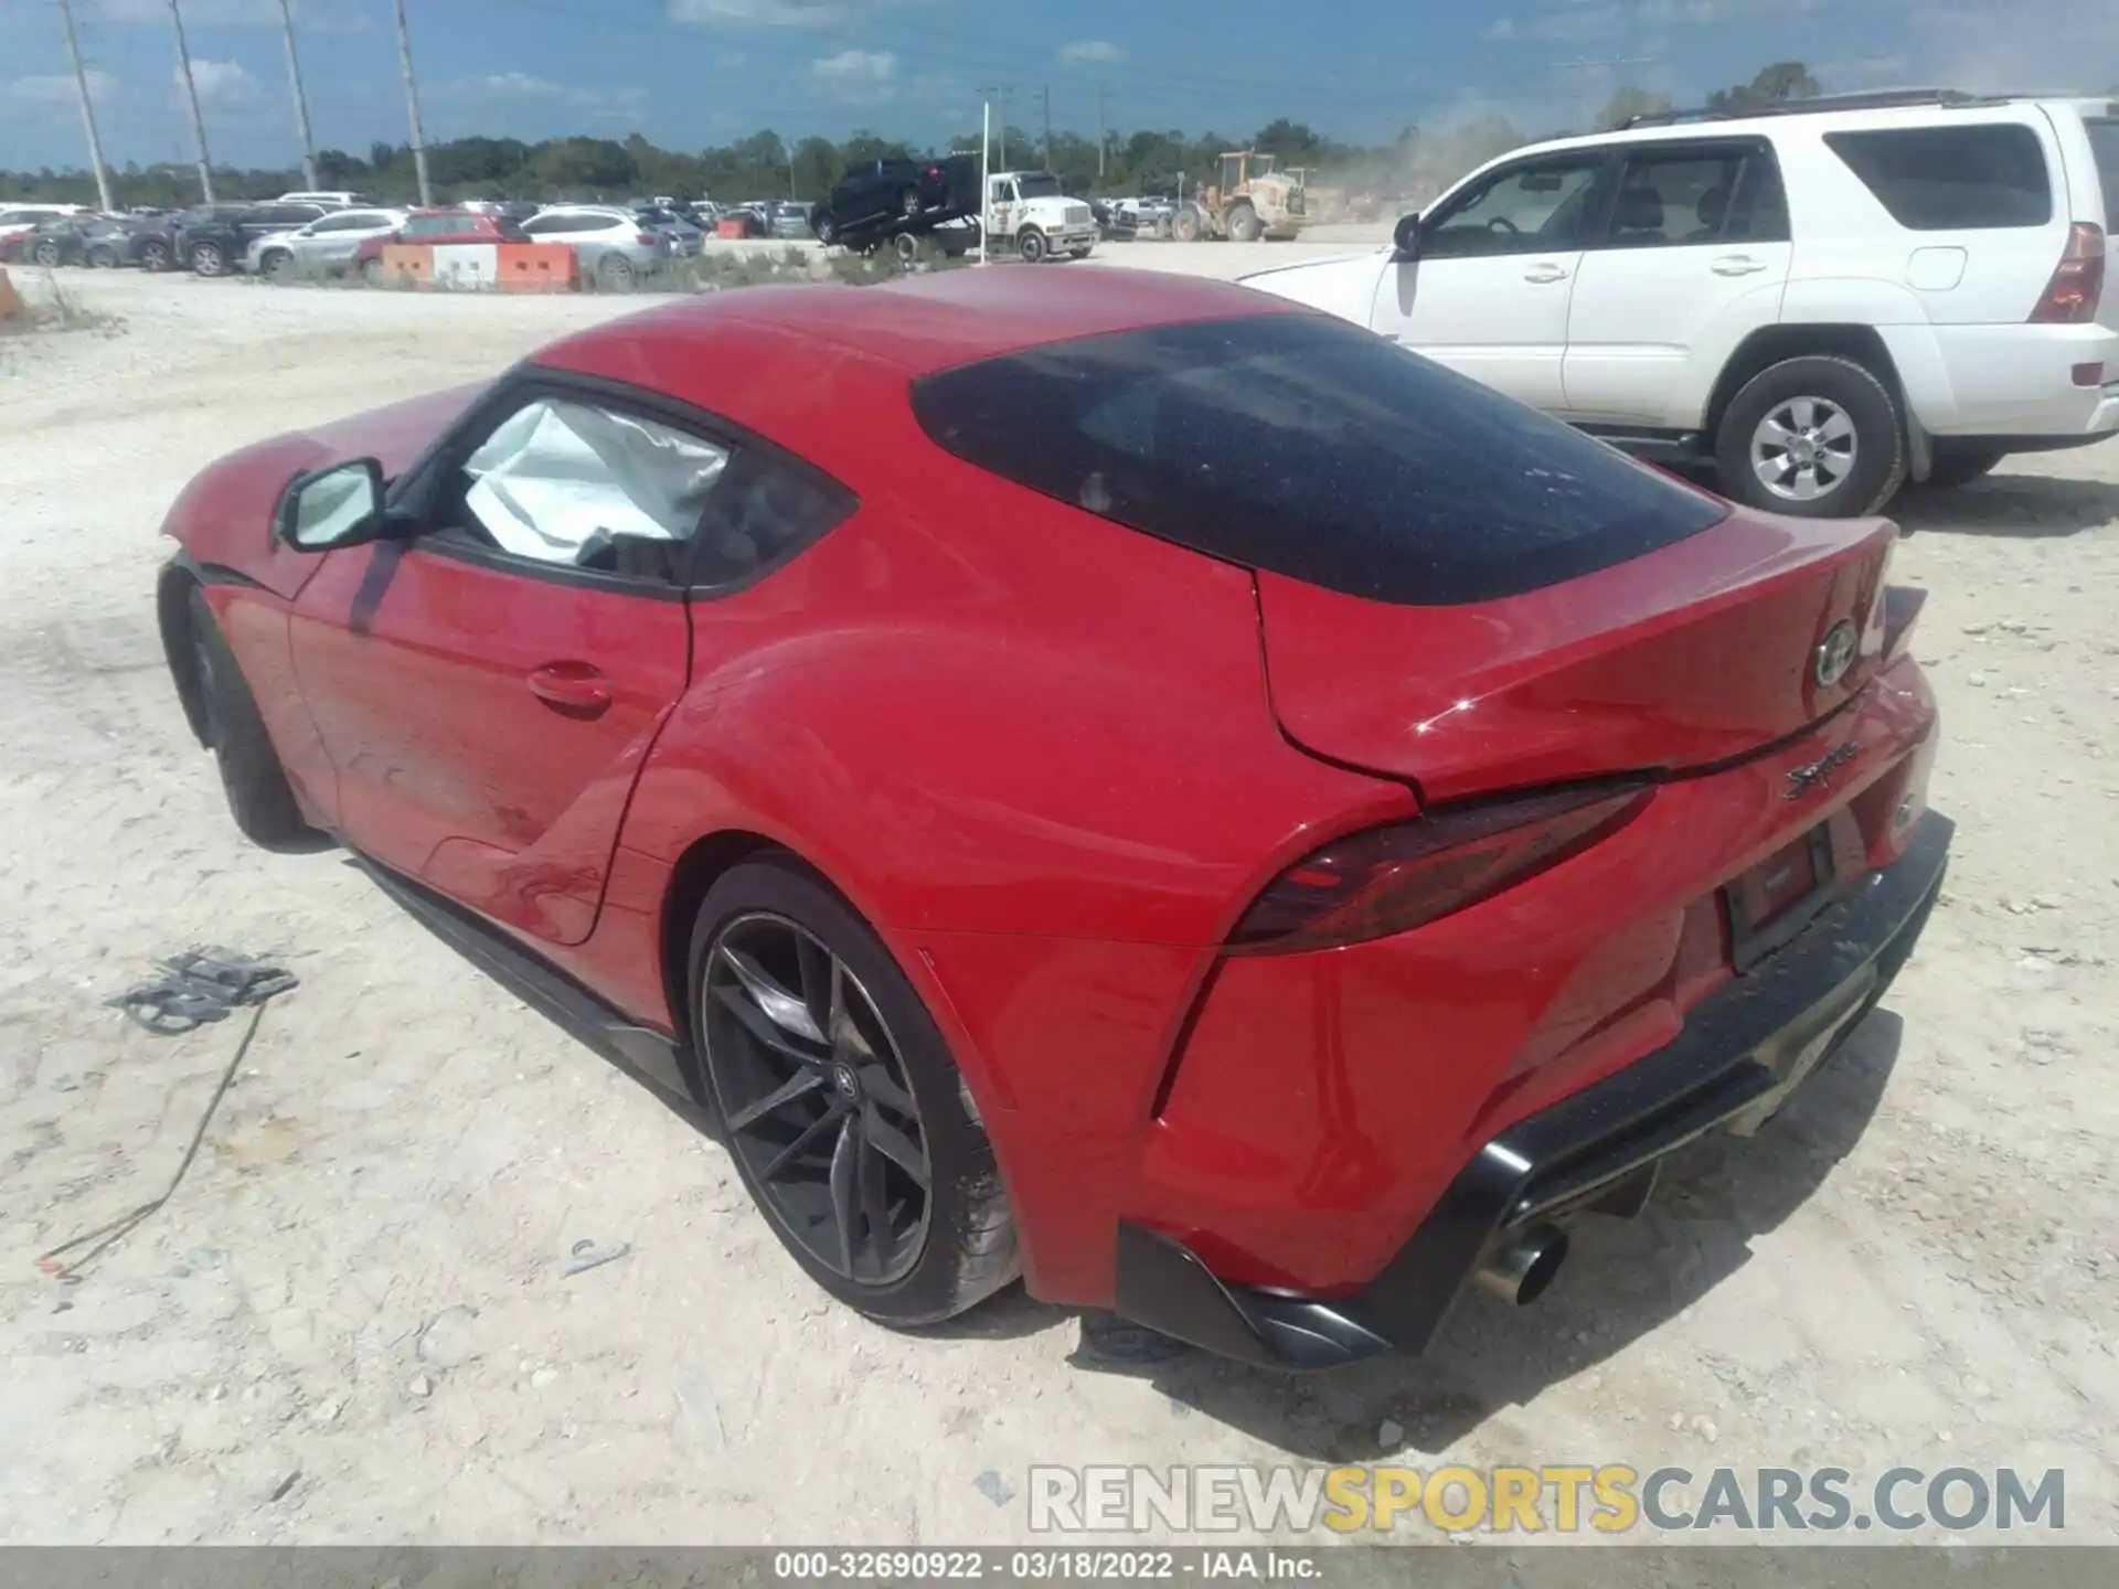
<instances>
[{"instance_id":1,"label":"white SUV with roof rack parked behind the red car","mask_svg":"<svg viewBox=\"0 0 2119 1589\"><path fill-rule=\"evenodd\" d=\"M1846 517L2119 430L2115 225L2119 102L1854 95L1519 148L1382 254L1246 282Z\"/></svg>"}]
</instances>

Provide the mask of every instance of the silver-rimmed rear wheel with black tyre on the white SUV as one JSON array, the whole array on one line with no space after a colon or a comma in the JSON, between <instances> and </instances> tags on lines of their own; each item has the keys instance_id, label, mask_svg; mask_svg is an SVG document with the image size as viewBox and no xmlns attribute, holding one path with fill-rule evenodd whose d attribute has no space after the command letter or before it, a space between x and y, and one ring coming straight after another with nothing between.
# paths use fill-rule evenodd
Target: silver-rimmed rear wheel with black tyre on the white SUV
<instances>
[{"instance_id":1,"label":"silver-rimmed rear wheel with black tyre on the white SUV","mask_svg":"<svg viewBox=\"0 0 2119 1589\"><path fill-rule=\"evenodd\" d=\"M1786 358L1735 394L1714 436L1723 492L1767 513L1856 519L1905 481L1899 405L1863 364Z\"/></svg>"}]
</instances>

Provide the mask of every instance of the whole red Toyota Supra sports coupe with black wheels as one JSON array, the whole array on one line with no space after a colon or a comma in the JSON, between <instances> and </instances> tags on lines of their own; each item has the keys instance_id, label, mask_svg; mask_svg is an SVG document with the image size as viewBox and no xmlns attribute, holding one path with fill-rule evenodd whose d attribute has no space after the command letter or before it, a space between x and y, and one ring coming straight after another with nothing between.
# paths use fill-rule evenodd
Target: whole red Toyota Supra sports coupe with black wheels
<instances>
[{"instance_id":1,"label":"whole red Toyota Supra sports coupe with black wheels","mask_svg":"<svg viewBox=\"0 0 2119 1589\"><path fill-rule=\"evenodd\" d=\"M898 1324L1021 1271L1320 1367L1528 1301L1833 1053L1949 845L1888 523L1235 286L687 301L165 532L242 831L704 1104Z\"/></svg>"}]
</instances>

